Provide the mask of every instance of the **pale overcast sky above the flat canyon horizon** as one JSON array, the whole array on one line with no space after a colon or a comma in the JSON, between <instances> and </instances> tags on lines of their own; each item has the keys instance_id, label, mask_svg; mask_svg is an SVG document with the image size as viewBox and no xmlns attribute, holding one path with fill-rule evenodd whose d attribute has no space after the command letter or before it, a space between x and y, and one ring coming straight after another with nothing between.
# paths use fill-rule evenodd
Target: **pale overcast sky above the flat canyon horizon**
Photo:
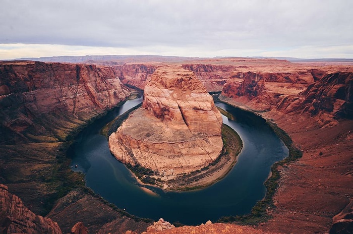
<instances>
[{"instance_id":1,"label":"pale overcast sky above the flat canyon horizon","mask_svg":"<svg viewBox=\"0 0 353 234\"><path fill-rule=\"evenodd\" d=\"M0 0L0 60L60 55L353 59L351 0Z\"/></svg>"}]
</instances>

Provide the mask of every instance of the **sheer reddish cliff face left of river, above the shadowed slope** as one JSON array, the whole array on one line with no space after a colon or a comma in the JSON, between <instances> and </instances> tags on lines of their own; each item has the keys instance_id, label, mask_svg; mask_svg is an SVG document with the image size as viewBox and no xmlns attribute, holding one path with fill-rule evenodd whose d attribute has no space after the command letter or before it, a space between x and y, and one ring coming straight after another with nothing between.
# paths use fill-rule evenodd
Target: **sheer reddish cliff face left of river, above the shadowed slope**
<instances>
[{"instance_id":1,"label":"sheer reddish cliff face left of river, above the shadowed slope","mask_svg":"<svg viewBox=\"0 0 353 234\"><path fill-rule=\"evenodd\" d=\"M80 124L129 94L114 70L94 65L3 62L0 77L3 144L38 135L56 141L65 135L58 125L68 128L63 121Z\"/></svg>"}]
</instances>

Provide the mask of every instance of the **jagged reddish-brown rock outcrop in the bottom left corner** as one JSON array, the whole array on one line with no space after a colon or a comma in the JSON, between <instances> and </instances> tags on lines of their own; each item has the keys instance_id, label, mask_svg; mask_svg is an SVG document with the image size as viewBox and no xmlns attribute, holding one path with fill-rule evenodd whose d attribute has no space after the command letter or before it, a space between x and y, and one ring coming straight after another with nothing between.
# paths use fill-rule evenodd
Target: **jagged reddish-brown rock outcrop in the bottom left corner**
<instances>
[{"instance_id":1,"label":"jagged reddish-brown rock outcrop in the bottom left corner","mask_svg":"<svg viewBox=\"0 0 353 234\"><path fill-rule=\"evenodd\" d=\"M12 195L8 187L0 184L0 232L1 233L57 233L62 231L56 222L34 214L21 199Z\"/></svg>"}]
</instances>

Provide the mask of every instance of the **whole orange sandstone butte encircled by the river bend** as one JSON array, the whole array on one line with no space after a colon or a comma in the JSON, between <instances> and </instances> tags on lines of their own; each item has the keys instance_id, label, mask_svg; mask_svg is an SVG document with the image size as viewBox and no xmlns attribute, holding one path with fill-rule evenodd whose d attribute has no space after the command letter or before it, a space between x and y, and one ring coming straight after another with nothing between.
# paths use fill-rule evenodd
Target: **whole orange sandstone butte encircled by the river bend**
<instances>
[{"instance_id":1,"label":"whole orange sandstone butte encircled by the river bend","mask_svg":"<svg viewBox=\"0 0 353 234\"><path fill-rule=\"evenodd\" d=\"M109 148L125 164L153 170L166 188L167 181L220 155L221 126L220 112L195 75L163 66L146 85L142 107L110 135Z\"/></svg>"}]
</instances>

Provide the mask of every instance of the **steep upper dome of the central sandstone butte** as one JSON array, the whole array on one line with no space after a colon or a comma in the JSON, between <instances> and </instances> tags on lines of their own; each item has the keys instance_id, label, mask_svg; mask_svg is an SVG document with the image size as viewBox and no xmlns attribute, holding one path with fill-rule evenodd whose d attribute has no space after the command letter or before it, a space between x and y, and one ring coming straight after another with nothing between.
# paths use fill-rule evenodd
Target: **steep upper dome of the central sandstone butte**
<instances>
[{"instance_id":1,"label":"steep upper dome of the central sandstone butte","mask_svg":"<svg viewBox=\"0 0 353 234\"><path fill-rule=\"evenodd\" d=\"M222 118L212 97L193 73L161 68L145 88L142 106L158 119L192 133L220 136Z\"/></svg>"}]
</instances>

